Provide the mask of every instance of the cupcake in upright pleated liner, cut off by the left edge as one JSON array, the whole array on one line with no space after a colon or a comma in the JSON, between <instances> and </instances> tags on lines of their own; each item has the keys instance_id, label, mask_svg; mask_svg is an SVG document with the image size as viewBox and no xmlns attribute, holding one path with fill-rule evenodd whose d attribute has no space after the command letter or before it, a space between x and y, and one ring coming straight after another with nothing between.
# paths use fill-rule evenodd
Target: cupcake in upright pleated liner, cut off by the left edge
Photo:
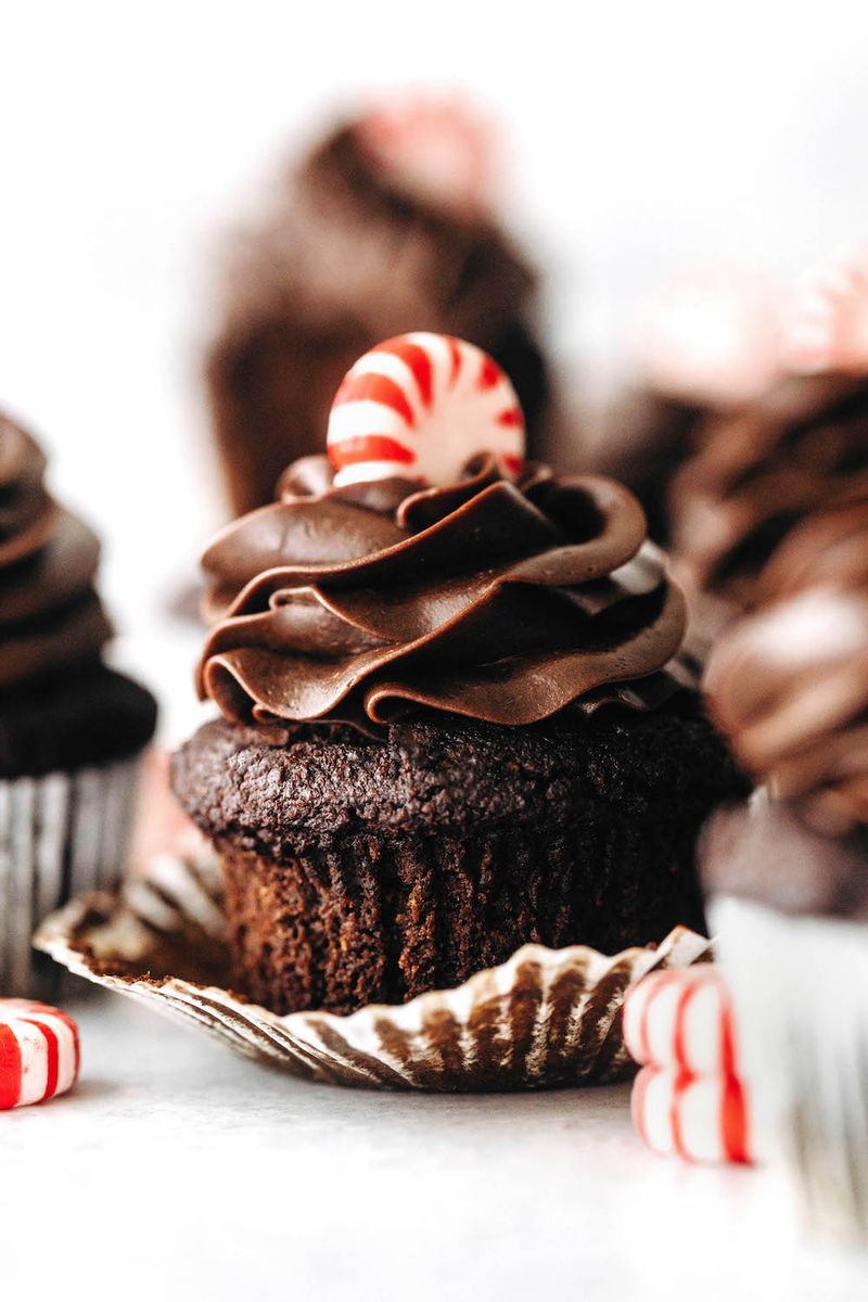
<instances>
[{"instance_id":1,"label":"cupcake in upright pleated liner, cut off by the left edge","mask_svg":"<svg viewBox=\"0 0 868 1302\"><path fill-rule=\"evenodd\" d=\"M46 458L0 415L0 988L34 990L30 936L124 862L135 756L156 704L103 664L99 543L46 490Z\"/></svg>"}]
</instances>

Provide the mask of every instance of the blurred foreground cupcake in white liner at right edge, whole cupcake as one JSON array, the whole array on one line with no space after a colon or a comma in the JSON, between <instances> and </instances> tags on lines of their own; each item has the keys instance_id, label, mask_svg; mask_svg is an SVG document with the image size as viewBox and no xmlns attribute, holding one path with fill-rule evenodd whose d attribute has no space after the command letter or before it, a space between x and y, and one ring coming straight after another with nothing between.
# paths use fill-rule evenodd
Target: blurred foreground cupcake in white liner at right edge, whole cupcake
<instances>
[{"instance_id":1,"label":"blurred foreground cupcake in white liner at right edge, whole cupcake","mask_svg":"<svg viewBox=\"0 0 868 1302\"><path fill-rule=\"evenodd\" d=\"M755 591L705 689L764 785L712 819L703 879L757 1125L813 1229L864 1242L868 491L795 526Z\"/></svg>"}]
</instances>

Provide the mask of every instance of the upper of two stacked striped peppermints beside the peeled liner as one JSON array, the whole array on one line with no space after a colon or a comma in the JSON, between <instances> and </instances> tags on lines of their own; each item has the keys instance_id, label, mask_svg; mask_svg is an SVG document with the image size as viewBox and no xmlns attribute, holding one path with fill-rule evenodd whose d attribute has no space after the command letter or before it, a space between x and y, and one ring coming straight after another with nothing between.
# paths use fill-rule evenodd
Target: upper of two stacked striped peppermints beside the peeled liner
<instances>
[{"instance_id":1,"label":"upper of two stacked striped peppermints beside the peeled liner","mask_svg":"<svg viewBox=\"0 0 868 1302\"><path fill-rule=\"evenodd\" d=\"M692 1075L738 1073L729 990L712 963L651 973L623 1001L623 1042L636 1062Z\"/></svg>"}]
</instances>

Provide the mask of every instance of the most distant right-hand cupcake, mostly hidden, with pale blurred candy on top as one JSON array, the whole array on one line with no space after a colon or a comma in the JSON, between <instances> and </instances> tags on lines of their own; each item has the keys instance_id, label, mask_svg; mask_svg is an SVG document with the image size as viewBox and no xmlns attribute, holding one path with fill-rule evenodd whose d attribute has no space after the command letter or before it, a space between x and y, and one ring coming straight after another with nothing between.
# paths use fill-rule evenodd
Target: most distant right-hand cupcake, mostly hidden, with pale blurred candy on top
<instances>
[{"instance_id":1,"label":"most distant right-hand cupcake, mostly hidden, with pale blurred candy on top","mask_svg":"<svg viewBox=\"0 0 868 1302\"><path fill-rule=\"evenodd\" d=\"M780 372L778 309L770 288L744 271L686 271L643 302L631 333L632 375L604 415L591 461L635 492L651 538L665 546L670 482L708 418L738 411Z\"/></svg>"}]
</instances>

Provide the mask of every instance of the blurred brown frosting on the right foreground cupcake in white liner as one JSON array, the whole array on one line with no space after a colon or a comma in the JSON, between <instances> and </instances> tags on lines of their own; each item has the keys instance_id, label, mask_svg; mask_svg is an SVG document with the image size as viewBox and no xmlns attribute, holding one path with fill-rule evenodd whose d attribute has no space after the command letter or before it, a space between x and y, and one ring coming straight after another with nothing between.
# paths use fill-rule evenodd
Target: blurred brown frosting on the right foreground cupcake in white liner
<instances>
[{"instance_id":1,"label":"blurred brown frosting on the right foreground cupcake in white liner","mask_svg":"<svg viewBox=\"0 0 868 1302\"><path fill-rule=\"evenodd\" d=\"M825 832L868 823L868 492L806 521L705 686L742 762Z\"/></svg>"}]
</instances>

